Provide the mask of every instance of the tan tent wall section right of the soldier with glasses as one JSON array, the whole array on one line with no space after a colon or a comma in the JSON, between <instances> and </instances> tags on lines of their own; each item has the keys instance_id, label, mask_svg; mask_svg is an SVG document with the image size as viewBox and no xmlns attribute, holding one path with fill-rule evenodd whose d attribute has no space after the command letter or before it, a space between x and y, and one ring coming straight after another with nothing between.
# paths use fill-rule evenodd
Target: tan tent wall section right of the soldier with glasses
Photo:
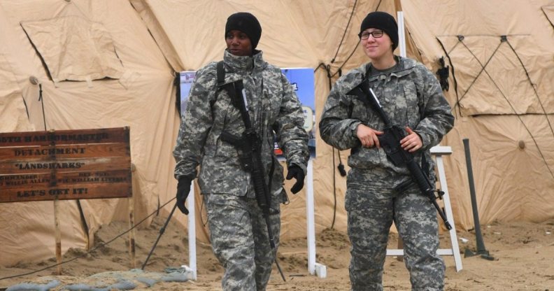
<instances>
[{"instance_id":1,"label":"tan tent wall section right of the soldier with glasses","mask_svg":"<svg viewBox=\"0 0 554 291\"><path fill-rule=\"evenodd\" d=\"M553 3L402 1L425 64L436 68L448 52L446 65L454 67L457 94L452 69L445 94L457 119L443 144L453 148L445 165L457 225L473 225L464 138L482 223L541 221L554 213L547 202L554 199L554 29L543 13Z\"/></svg>"}]
</instances>

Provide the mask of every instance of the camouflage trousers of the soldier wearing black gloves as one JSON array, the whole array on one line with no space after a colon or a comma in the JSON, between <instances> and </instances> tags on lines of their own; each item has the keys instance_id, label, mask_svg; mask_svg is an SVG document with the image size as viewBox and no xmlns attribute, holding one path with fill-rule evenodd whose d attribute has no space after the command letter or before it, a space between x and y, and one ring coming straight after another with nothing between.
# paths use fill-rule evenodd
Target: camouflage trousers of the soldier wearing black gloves
<instances>
[{"instance_id":1,"label":"camouflage trousers of the soldier wearing black gloves","mask_svg":"<svg viewBox=\"0 0 554 291\"><path fill-rule=\"evenodd\" d=\"M280 214L270 215L276 248L271 250L267 225L255 198L204 194L210 240L225 267L223 290L266 290L279 243ZM274 203L274 208L279 207Z\"/></svg>"}]
</instances>

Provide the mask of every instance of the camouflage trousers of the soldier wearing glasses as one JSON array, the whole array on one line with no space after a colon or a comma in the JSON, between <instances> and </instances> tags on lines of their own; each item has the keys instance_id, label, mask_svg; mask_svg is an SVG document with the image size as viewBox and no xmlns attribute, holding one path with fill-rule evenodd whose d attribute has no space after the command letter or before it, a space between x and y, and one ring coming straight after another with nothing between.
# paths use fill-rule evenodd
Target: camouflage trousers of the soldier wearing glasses
<instances>
[{"instance_id":1,"label":"camouflage trousers of the soldier wearing glasses","mask_svg":"<svg viewBox=\"0 0 554 291\"><path fill-rule=\"evenodd\" d=\"M436 209L413 185L403 193L350 187L346 192L351 290L383 290L388 234L394 220L404 241L404 262L412 290L444 288Z\"/></svg>"}]
</instances>

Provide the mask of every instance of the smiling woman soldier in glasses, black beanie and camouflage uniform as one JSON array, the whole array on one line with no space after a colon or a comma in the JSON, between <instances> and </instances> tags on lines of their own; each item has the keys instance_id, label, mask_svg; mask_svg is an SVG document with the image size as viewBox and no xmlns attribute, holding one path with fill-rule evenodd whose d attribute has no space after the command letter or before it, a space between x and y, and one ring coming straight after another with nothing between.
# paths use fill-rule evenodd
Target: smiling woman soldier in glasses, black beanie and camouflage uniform
<instances>
[{"instance_id":1,"label":"smiling woman soldier in glasses, black beanie and camouflage uniform","mask_svg":"<svg viewBox=\"0 0 554 291\"><path fill-rule=\"evenodd\" d=\"M406 129L401 141L434 185L429 148L441 141L454 123L439 82L422 64L393 55L397 24L391 15L369 13L360 27L361 44L371 62L336 81L320 120L321 138L339 150L350 149L345 207L352 247L352 290L383 290L383 264L392 222L404 240L404 259L412 290L443 290L444 262L439 247L436 210L406 167L393 165L379 145L384 122L373 108L346 94L366 82L374 90L392 124Z\"/></svg>"}]
</instances>

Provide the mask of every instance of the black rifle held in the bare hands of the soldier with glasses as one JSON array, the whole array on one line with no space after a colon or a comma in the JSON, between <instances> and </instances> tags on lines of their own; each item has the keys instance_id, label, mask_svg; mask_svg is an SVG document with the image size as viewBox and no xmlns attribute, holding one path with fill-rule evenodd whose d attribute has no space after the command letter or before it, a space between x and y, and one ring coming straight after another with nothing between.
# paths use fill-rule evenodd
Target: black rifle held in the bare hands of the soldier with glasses
<instances>
[{"instance_id":1,"label":"black rifle held in the bare hands of the soldier with glasses","mask_svg":"<svg viewBox=\"0 0 554 291\"><path fill-rule=\"evenodd\" d=\"M402 146L400 146L400 141L404 139L404 136L407 135L404 131L404 128L399 127L398 125L392 125L387 114L385 113L385 111L383 111L381 103L379 103L379 100L375 96L373 90L367 87L367 82L365 80L346 94L355 95L358 99L364 102L364 104L366 104L370 108L374 108L374 110L377 111L378 115L381 116L381 119L383 119L383 122L385 122L385 129L383 129L384 134L381 134L381 136L377 136L377 138L379 139L379 144L381 145L383 150L385 150L387 157L390 159L390 162L392 162L392 164L395 164L395 166L408 167L408 170L411 173L412 180L418 185L420 191L425 194L425 196L427 196L432 202L432 204L436 208L436 211L441 216L446 228L448 230L452 229L452 226L450 225L450 222L448 222L446 215L444 215L444 212L439 207L439 204L436 203L436 199L441 198L444 192L440 190L433 190L434 187L429 182L429 178L427 178L425 172L422 171L420 165L415 162L415 159L413 159L413 155L410 152L404 150ZM425 159L425 157L422 158ZM434 192L437 192L438 197L435 196Z\"/></svg>"}]
</instances>

